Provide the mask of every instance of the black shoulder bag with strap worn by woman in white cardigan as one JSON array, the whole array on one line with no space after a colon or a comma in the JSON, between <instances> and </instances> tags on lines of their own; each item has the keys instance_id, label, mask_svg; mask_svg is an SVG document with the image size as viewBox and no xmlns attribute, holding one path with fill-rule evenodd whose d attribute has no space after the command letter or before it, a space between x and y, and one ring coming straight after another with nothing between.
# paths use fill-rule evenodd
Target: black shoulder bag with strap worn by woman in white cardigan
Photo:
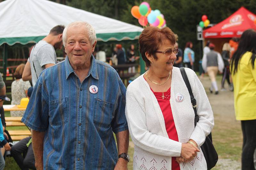
<instances>
[{"instance_id":1,"label":"black shoulder bag with strap worn by woman in white cardigan","mask_svg":"<svg viewBox=\"0 0 256 170\"><path fill-rule=\"evenodd\" d=\"M184 80L184 82L185 82L185 84L188 88L188 92L189 92L189 95L190 95L192 107L193 107L194 112L195 112L194 124L196 126L196 123L199 120L199 117L196 113L196 99L194 98L194 95L192 93L192 89L190 87L190 83L188 81L188 76L186 74L186 71L185 71L184 67L180 68L180 72L181 72L182 78L183 78L183 80ZM201 146L201 150L204 153L204 158L205 158L206 164L207 164L207 170L212 169L218 161L218 153L216 152L216 150L215 150L215 148L212 144L212 132L208 136L206 136L204 144Z\"/></svg>"}]
</instances>

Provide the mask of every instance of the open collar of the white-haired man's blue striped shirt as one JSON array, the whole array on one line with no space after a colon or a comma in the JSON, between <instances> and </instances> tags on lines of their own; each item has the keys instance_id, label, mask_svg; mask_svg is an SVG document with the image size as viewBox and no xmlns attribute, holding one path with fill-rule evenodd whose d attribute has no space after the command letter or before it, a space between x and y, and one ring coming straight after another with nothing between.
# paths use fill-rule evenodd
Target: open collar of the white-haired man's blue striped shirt
<instances>
[{"instance_id":1,"label":"open collar of the white-haired man's blue striped shirt","mask_svg":"<svg viewBox=\"0 0 256 170\"><path fill-rule=\"evenodd\" d=\"M68 56L65 59L65 69L66 69L66 79L68 79L68 76L71 73L74 73L74 70L71 67L70 63L69 63ZM92 62L91 62L90 70L89 70L89 73L86 76L86 78L89 77L90 74L92 75L92 77L94 79L99 80L99 76L98 76L98 72L97 72L97 67L96 67L96 60L95 60L93 55L92 55Z\"/></svg>"}]
</instances>

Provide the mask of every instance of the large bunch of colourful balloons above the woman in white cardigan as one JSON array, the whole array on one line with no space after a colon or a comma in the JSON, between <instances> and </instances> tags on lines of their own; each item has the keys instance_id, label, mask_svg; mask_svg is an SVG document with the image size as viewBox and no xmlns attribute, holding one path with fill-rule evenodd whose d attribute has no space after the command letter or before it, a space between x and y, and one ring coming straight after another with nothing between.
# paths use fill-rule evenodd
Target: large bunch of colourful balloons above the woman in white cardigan
<instances>
[{"instance_id":1,"label":"large bunch of colourful balloons above the woman in white cardigan","mask_svg":"<svg viewBox=\"0 0 256 170\"><path fill-rule=\"evenodd\" d=\"M142 2L140 6L133 6L131 13L142 26L148 26L148 23L150 26L157 26L158 28L166 26L164 15L159 10L151 10L147 2Z\"/></svg>"}]
</instances>

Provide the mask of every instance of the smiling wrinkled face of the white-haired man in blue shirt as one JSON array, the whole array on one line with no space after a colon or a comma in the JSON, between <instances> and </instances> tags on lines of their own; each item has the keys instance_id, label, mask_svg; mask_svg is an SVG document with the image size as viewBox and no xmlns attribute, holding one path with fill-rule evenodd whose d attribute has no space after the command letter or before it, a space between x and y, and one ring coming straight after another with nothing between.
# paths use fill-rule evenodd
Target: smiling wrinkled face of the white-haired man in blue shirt
<instances>
[{"instance_id":1,"label":"smiling wrinkled face of the white-haired man in blue shirt","mask_svg":"<svg viewBox=\"0 0 256 170\"><path fill-rule=\"evenodd\" d=\"M90 64L96 41L91 44L83 26L71 27L67 31L66 53L71 66L80 67Z\"/></svg>"}]
</instances>

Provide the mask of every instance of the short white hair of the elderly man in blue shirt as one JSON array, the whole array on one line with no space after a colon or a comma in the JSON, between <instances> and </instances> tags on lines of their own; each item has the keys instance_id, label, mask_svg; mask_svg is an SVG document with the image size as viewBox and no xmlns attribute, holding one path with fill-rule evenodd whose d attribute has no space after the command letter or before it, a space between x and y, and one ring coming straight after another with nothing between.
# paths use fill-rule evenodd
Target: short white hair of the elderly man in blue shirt
<instances>
[{"instance_id":1,"label":"short white hair of the elderly man in blue shirt","mask_svg":"<svg viewBox=\"0 0 256 170\"><path fill-rule=\"evenodd\" d=\"M94 44L94 42L96 41L96 33L92 25L84 21L75 21L68 24L68 26L66 26L64 29L63 35L62 35L63 45L66 46L67 44L68 29L70 27L76 27L76 26L84 26L84 28L87 30L89 41L91 42L91 44Z\"/></svg>"}]
</instances>

